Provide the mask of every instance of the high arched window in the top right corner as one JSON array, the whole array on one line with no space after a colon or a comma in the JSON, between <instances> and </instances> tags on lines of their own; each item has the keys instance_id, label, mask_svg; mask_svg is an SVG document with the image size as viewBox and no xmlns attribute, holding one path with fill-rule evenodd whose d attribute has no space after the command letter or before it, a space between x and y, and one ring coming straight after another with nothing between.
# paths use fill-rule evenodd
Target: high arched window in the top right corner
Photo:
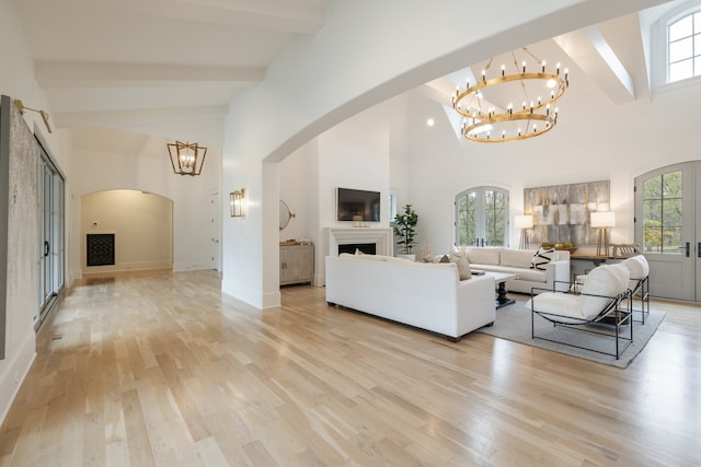
<instances>
[{"instance_id":1,"label":"high arched window in the top right corner","mask_svg":"<svg viewBox=\"0 0 701 467\"><path fill-rule=\"evenodd\" d=\"M670 23L667 45L668 82L701 75L701 11Z\"/></svg>"}]
</instances>

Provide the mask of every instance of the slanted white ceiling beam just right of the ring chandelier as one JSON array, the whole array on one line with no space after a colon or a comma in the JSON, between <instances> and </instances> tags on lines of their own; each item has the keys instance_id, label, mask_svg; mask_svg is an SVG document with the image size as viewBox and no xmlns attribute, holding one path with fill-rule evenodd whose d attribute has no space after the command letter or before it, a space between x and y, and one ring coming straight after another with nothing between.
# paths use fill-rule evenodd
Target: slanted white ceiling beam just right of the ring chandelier
<instances>
[{"instance_id":1,"label":"slanted white ceiling beam just right of the ring chandelier","mask_svg":"<svg viewBox=\"0 0 701 467\"><path fill-rule=\"evenodd\" d=\"M563 34L554 40L613 103L635 101L633 79L596 26Z\"/></svg>"}]
</instances>

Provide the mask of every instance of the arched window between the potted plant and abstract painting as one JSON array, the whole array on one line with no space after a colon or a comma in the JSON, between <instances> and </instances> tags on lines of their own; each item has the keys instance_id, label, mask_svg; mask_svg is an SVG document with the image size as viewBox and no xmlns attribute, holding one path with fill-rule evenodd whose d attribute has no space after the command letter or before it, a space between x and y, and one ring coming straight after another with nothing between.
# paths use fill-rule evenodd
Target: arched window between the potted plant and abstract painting
<instances>
[{"instance_id":1,"label":"arched window between the potted plant and abstract painting","mask_svg":"<svg viewBox=\"0 0 701 467\"><path fill-rule=\"evenodd\" d=\"M456 243L458 245L506 246L508 191L476 187L456 197Z\"/></svg>"}]
</instances>

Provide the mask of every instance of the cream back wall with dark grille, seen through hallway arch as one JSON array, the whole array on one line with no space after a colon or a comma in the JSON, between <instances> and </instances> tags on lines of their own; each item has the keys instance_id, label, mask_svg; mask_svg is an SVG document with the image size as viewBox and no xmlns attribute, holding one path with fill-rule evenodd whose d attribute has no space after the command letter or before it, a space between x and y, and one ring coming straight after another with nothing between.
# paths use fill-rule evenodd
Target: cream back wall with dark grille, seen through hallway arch
<instances>
[{"instance_id":1,"label":"cream back wall with dark grille, seen through hallway arch","mask_svg":"<svg viewBox=\"0 0 701 467\"><path fill-rule=\"evenodd\" d=\"M171 200L138 190L97 191L82 197L80 219L83 255L87 234L115 234L115 265L87 267L83 257L83 273L172 267Z\"/></svg>"}]
</instances>

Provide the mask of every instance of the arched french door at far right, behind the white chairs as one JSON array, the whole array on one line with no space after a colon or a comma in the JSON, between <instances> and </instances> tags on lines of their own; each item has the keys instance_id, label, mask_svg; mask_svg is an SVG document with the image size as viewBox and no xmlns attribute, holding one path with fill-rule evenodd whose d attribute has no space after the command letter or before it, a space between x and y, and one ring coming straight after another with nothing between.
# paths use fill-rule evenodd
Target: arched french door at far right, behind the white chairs
<instances>
[{"instance_id":1,"label":"arched french door at far right, behind the white chairs","mask_svg":"<svg viewBox=\"0 0 701 467\"><path fill-rule=\"evenodd\" d=\"M654 296L701 301L701 161L635 178L635 243Z\"/></svg>"}]
</instances>

